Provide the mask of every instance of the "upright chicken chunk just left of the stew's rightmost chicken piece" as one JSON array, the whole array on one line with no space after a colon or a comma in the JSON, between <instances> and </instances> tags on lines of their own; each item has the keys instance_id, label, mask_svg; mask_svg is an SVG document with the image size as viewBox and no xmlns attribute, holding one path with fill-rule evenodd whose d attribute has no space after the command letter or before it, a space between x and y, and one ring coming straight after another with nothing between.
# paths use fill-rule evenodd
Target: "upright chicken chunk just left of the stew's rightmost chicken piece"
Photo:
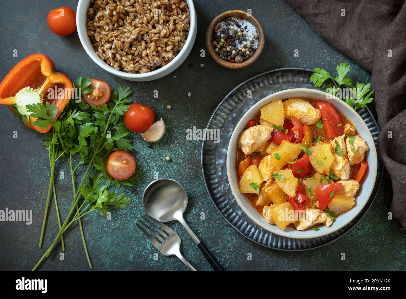
<instances>
[{"instance_id":1,"label":"upright chicken chunk just left of the stew's rightmost chicken piece","mask_svg":"<svg viewBox=\"0 0 406 299\"><path fill-rule=\"evenodd\" d=\"M330 170L331 170L331 172L333 172L333 175L335 175L336 177L338 177L339 179L342 179L342 180L346 180L350 177L350 170L351 170L350 160L348 160L348 157L347 157L347 147L346 147L346 143L344 140L345 137L346 137L346 135L341 135L338 137L334 137L334 139L330 141L331 152L333 153L333 156L334 156L334 161L333 161L333 164L331 164L331 166L330 166ZM337 142L337 144L343 151L343 153L341 153L341 155L339 155L339 153L340 153L339 148L335 142ZM336 146L337 146L337 153L336 153Z\"/></svg>"}]
</instances>

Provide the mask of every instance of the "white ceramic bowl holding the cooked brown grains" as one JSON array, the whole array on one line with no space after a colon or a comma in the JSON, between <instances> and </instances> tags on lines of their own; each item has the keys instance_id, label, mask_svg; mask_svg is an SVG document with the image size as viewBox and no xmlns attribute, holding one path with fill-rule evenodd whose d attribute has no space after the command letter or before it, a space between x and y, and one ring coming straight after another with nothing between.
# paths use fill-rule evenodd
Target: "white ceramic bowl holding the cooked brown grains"
<instances>
[{"instance_id":1,"label":"white ceramic bowl holding the cooked brown grains","mask_svg":"<svg viewBox=\"0 0 406 299\"><path fill-rule=\"evenodd\" d=\"M130 81L151 81L155 79L162 78L166 76L170 72L173 72L177 69L182 62L185 61L186 57L188 57L190 50L192 50L194 39L196 38L197 33L197 17L196 11L194 10L194 5L192 0L186 0L186 3L189 7L190 12L190 28L188 33L188 38L186 39L185 45L177 53L176 57L167 65L158 70L153 70L152 72L144 73L144 74L130 74L127 72L122 72L120 70L116 70L104 62L100 57L98 57L95 53L95 50L92 47L90 37L86 34L86 11L90 5L89 0L79 0L78 9L76 10L76 27L78 30L78 35L80 42L84 50L86 51L87 55L102 69L106 70L110 74L114 76L120 77L121 79L130 80Z\"/></svg>"}]
</instances>

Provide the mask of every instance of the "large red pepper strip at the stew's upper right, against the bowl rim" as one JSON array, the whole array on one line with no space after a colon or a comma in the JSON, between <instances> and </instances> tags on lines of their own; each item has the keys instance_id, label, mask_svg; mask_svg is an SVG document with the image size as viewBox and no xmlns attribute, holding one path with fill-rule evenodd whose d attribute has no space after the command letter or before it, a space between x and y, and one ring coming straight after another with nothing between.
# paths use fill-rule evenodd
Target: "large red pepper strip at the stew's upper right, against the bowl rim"
<instances>
[{"instance_id":1,"label":"large red pepper strip at the stew's upper right, against the bowl rim","mask_svg":"<svg viewBox=\"0 0 406 299\"><path fill-rule=\"evenodd\" d=\"M328 138L334 138L341 135L344 123L333 105L324 101L315 101L314 107L319 109L322 114L324 129L326 130ZM339 125L339 127L337 127L337 125Z\"/></svg>"}]
</instances>

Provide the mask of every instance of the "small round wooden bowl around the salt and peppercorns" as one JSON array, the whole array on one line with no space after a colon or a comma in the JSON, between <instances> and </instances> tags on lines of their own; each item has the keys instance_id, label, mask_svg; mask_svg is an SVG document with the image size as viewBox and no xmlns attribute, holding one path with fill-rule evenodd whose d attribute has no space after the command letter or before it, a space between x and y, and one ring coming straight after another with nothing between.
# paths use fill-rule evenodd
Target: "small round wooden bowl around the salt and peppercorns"
<instances>
[{"instance_id":1,"label":"small round wooden bowl around the salt and peppercorns","mask_svg":"<svg viewBox=\"0 0 406 299\"><path fill-rule=\"evenodd\" d=\"M257 50L255 50L253 56L246 59L246 61L243 61L242 63L232 63L229 61L225 61L224 59L221 59L218 56L216 51L214 51L214 46L213 46L214 27L216 26L216 24L218 22L221 22L226 17L235 17L235 18L245 19L248 22L250 22L251 24L253 24L255 26L255 28L257 29L257 35L258 35ZM251 65L261 55L264 44L265 44L265 37L263 34L263 28L262 28L261 24L258 22L258 20L255 17L253 17L253 15L248 14L246 11L231 10L231 11L225 11L224 13L220 13L210 23L209 28L207 28L207 32L206 32L207 51L209 52L210 56L214 59L214 61L216 61L221 66L224 66L225 68L238 69L238 68L245 68L246 66Z\"/></svg>"}]
</instances>

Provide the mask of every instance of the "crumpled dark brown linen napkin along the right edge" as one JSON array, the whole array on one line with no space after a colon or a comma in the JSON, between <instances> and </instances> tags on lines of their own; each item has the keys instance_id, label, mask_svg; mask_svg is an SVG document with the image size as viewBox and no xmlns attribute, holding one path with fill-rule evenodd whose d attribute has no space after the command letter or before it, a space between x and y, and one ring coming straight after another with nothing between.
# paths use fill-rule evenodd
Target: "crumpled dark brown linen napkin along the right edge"
<instances>
[{"instance_id":1,"label":"crumpled dark brown linen napkin along the right edge","mask_svg":"<svg viewBox=\"0 0 406 299\"><path fill-rule=\"evenodd\" d=\"M403 0L286 0L343 54L372 72L389 210L406 228L406 4ZM345 16L343 15L345 9ZM390 54L391 55L388 55ZM391 57L389 57L391 56ZM317 65L315 65L317 67ZM391 186L393 196L391 194ZM387 190L387 191L388 191Z\"/></svg>"}]
</instances>

